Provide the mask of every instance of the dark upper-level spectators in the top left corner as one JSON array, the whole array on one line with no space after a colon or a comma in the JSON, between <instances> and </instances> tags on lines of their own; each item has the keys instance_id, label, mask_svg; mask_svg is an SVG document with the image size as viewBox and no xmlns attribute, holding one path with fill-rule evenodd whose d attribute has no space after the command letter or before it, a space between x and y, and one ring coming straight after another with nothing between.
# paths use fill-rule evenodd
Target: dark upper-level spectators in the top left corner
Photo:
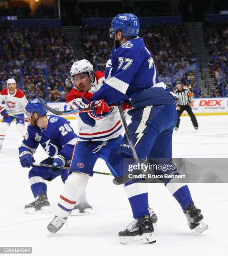
<instances>
[{"instance_id":1,"label":"dark upper-level spectators in the top left corner","mask_svg":"<svg viewBox=\"0 0 228 256\"><path fill-rule=\"evenodd\" d=\"M55 18L53 8L50 5L38 5L35 14L31 15L31 9L28 4L24 7L11 6L6 8L5 5L0 6L0 16L17 16L18 19L51 19Z\"/></svg>"}]
</instances>

